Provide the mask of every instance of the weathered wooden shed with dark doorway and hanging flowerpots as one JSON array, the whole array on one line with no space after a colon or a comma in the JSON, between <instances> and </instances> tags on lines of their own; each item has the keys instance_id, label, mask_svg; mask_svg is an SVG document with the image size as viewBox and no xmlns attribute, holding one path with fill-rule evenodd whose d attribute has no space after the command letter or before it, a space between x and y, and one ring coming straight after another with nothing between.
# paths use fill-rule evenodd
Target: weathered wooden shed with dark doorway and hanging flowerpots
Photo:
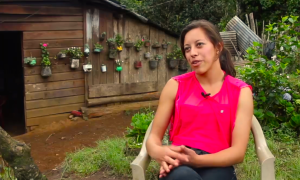
<instances>
[{"instance_id":1,"label":"weathered wooden shed with dark doorway and hanging flowerpots","mask_svg":"<svg viewBox=\"0 0 300 180\"><path fill-rule=\"evenodd\" d=\"M101 34L106 32L104 40ZM116 59L123 62L116 71L115 60L108 57L106 40L120 34L133 42L142 38L152 42L163 40L167 48L143 47L141 51L123 48ZM93 53L99 42L104 48ZM47 43L52 75L41 76L42 50ZM178 43L176 34L147 18L130 12L113 0L1 0L0 1L0 96L3 105L2 126L21 131L65 119L72 110L81 107L107 105L123 101L147 101L158 98L159 92L178 69L167 66L166 54ZM83 51L89 45L89 56L80 59L80 67L70 68L70 59L58 58L58 53L71 47ZM149 68L151 56L162 55L155 69ZM36 58L36 65L24 59ZM135 61L142 66L135 68ZM84 64L92 64L84 72ZM106 72L101 66L106 66ZM15 129L13 129L15 131Z\"/></svg>"}]
</instances>

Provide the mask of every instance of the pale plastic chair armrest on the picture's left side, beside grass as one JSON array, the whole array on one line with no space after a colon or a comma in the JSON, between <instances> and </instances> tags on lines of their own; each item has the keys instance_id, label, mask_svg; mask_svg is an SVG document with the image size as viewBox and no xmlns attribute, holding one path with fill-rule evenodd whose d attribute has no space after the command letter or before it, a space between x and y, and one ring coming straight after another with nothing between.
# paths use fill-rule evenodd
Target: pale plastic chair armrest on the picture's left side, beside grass
<instances>
[{"instance_id":1,"label":"pale plastic chair armrest on the picture's left side, beside grass","mask_svg":"<svg viewBox=\"0 0 300 180\"><path fill-rule=\"evenodd\" d=\"M151 157L148 155L146 142L150 135L152 129L152 123L149 125L147 132L145 134L145 138L143 141L143 145L139 155L135 158L135 160L130 164L132 170L133 180L146 180L146 169L149 166Z\"/></svg>"}]
</instances>

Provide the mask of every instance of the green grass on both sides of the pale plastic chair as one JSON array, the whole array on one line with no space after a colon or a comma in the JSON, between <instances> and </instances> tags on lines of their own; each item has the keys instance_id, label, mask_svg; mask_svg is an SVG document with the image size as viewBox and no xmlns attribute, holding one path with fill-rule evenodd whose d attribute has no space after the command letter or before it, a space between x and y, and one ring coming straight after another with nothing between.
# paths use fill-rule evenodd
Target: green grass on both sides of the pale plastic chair
<instances>
[{"instance_id":1,"label":"green grass on both sides of the pale plastic chair","mask_svg":"<svg viewBox=\"0 0 300 180\"><path fill-rule=\"evenodd\" d=\"M66 171L79 176L88 176L104 169L113 176L131 178L130 163L134 156L124 155L125 138L113 138L99 141L95 148L84 148L67 155ZM283 143L268 139L268 146L276 157L276 179L300 179L300 148L299 142ZM253 138L250 139L245 160L236 166L238 179L259 180L260 165L255 153ZM147 179L156 179L158 164L151 161L147 169Z\"/></svg>"}]
</instances>

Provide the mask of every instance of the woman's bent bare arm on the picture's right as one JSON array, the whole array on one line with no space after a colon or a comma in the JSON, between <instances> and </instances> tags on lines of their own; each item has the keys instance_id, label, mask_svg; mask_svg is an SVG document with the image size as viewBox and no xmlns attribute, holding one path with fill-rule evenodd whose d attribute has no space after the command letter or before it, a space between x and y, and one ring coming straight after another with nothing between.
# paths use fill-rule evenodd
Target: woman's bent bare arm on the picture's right
<instances>
[{"instance_id":1,"label":"woman's bent bare arm on the picture's right","mask_svg":"<svg viewBox=\"0 0 300 180\"><path fill-rule=\"evenodd\" d=\"M251 131L253 98L250 88L241 89L232 146L215 154L195 156L197 167L226 167L243 162Z\"/></svg>"}]
</instances>

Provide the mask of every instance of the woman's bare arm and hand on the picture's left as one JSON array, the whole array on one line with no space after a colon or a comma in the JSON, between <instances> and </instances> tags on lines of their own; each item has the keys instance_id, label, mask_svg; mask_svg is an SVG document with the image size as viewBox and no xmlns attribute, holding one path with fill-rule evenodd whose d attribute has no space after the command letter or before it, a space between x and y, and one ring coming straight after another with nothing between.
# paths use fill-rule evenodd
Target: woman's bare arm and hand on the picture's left
<instances>
[{"instance_id":1,"label":"woman's bare arm and hand on the picture's left","mask_svg":"<svg viewBox=\"0 0 300 180\"><path fill-rule=\"evenodd\" d=\"M183 155L162 146L162 139L168 127L174 109L174 101L178 90L178 82L170 79L162 90L158 108L153 120L152 130L146 143L149 155L158 162L165 161L177 165L174 159L184 160ZM180 149L179 147L177 149Z\"/></svg>"}]
</instances>

